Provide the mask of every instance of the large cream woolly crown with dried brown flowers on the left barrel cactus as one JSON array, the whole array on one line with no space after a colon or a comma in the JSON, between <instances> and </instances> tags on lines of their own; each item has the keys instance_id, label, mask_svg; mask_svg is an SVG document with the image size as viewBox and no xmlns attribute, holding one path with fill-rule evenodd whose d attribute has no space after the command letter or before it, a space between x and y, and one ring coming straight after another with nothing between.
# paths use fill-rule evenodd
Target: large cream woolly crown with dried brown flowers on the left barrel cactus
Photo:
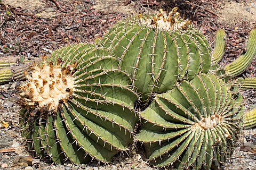
<instances>
[{"instance_id":1,"label":"large cream woolly crown with dried brown flowers on the left barrel cactus","mask_svg":"<svg viewBox=\"0 0 256 170\"><path fill-rule=\"evenodd\" d=\"M59 102L67 102L73 94L74 78L71 76L76 64L60 68L60 61L57 65L50 62L38 66L36 63L31 66L34 70L31 77L25 71L28 82L20 87L23 92L20 103L26 108L38 107L46 111L57 109Z\"/></svg>"}]
</instances>

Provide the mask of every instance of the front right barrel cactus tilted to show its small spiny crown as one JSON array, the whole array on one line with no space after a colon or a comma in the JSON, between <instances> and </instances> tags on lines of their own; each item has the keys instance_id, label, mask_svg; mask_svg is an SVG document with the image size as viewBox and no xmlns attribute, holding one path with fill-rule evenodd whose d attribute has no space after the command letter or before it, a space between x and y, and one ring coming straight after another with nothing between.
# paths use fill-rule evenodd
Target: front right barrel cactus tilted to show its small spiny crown
<instances>
[{"instance_id":1,"label":"front right barrel cactus tilted to show its small spiny crown","mask_svg":"<svg viewBox=\"0 0 256 170\"><path fill-rule=\"evenodd\" d=\"M141 113L143 142L150 164L178 169L218 169L238 139L242 96L215 75L196 75L156 95Z\"/></svg>"}]
</instances>

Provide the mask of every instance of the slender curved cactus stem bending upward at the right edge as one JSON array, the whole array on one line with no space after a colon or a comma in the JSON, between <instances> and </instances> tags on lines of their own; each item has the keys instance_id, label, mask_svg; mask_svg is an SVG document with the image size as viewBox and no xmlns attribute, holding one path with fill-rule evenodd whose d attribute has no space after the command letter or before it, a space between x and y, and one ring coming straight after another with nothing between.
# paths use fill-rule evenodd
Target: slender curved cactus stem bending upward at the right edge
<instances>
[{"instance_id":1,"label":"slender curved cactus stem bending upward at the right edge","mask_svg":"<svg viewBox=\"0 0 256 170\"><path fill-rule=\"evenodd\" d=\"M256 29L250 32L246 47L247 52L244 55L239 56L234 62L225 66L226 73L231 77L243 73L256 55Z\"/></svg>"}]
</instances>

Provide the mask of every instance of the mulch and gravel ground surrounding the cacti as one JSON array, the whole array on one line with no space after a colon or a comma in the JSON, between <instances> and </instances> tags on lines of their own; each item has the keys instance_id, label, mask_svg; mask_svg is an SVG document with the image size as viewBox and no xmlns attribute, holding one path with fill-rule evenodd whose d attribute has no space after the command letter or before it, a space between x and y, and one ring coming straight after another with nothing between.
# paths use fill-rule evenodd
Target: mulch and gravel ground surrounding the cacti
<instances>
[{"instance_id":1,"label":"mulch and gravel ground surrounding the cacti","mask_svg":"<svg viewBox=\"0 0 256 170\"><path fill-rule=\"evenodd\" d=\"M29 59L47 55L60 46L81 41L91 42L101 37L109 25L131 13L159 8L170 11L172 7L178 6L180 13L201 28L209 41L214 41L215 32L219 28L226 30L226 52L220 63L225 65L246 50L248 33L256 27L255 4L256 1L246 0L3 0L2 3L0 0L0 57L25 56ZM255 65L254 58L241 77L255 77ZM10 82L0 88L0 169L155 169L145 161L140 143L132 146L130 153L118 154L113 163L107 165L95 160L87 165L51 165L47 159L39 160L33 151L28 150L25 139L19 134L19 108L15 104L18 84ZM254 90L245 90L243 96L246 108L256 104ZM3 122L9 126L5 128ZM255 129L243 131L233 158L224 169L256 169L256 143L253 140L246 141L246 136L250 134L256 134Z\"/></svg>"}]
</instances>

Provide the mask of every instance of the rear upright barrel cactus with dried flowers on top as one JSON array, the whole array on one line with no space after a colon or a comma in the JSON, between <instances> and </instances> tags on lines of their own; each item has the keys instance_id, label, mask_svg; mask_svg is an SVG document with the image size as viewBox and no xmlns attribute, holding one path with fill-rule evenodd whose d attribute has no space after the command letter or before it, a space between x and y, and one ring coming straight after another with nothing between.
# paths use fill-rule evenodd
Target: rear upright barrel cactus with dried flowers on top
<instances>
[{"instance_id":1,"label":"rear upright barrel cactus with dried flowers on top","mask_svg":"<svg viewBox=\"0 0 256 170\"><path fill-rule=\"evenodd\" d=\"M177 8L169 15L160 10L155 16L139 15L117 23L103 37L102 45L120 60L121 70L130 74L142 101L210 68L209 44L190 21L179 18Z\"/></svg>"}]
</instances>

